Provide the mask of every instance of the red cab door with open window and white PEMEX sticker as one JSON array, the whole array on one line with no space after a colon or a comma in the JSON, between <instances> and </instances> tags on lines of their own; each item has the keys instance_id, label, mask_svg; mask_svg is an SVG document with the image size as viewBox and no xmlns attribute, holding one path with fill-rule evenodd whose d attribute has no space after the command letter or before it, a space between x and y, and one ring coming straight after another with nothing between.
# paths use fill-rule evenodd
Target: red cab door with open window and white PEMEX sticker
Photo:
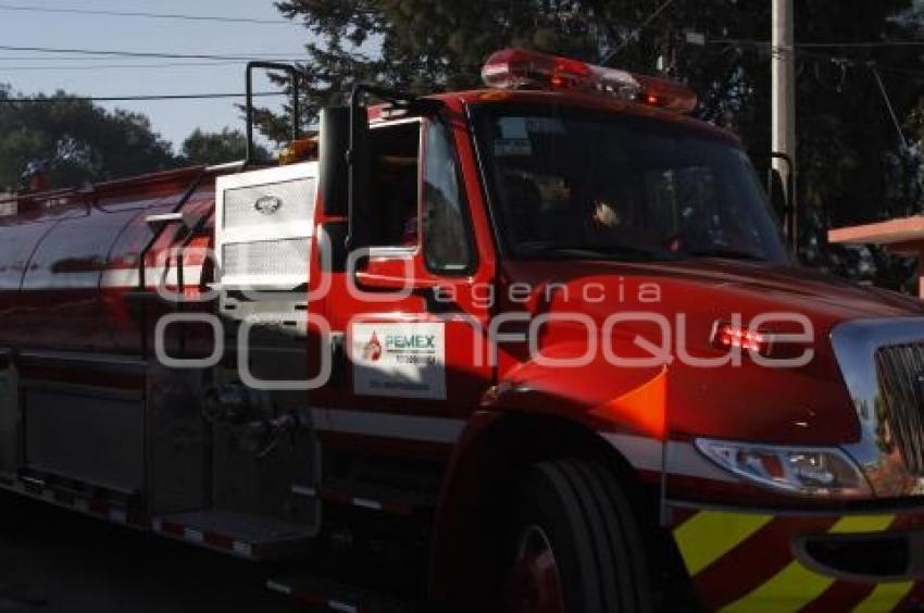
<instances>
[{"instance_id":1,"label":"red cab door with open window and white PEMEX sticker","mask_svg":"<svg viewBox=\"0 0 924 613\"><path fill-rule=\"evenodd\" d=\"M466 138L446 116L371 129L372 247L365 262L353 253L350 287L327 310L346 335L345 387L359 406L464 416L491 385L492 262L473 232L470 199L480 192L465 189Z\"/></svg>"}]
</instances>

